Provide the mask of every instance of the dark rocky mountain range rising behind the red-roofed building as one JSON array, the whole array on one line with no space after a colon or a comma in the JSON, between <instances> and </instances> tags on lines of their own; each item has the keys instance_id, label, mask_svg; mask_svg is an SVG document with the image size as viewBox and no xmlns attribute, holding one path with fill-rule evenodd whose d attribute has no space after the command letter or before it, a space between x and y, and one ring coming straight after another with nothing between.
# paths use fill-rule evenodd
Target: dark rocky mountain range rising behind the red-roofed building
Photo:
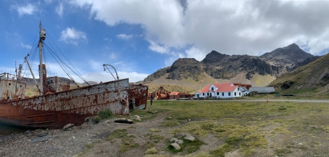
<instances>
[{"instance_id":1,"label":"dark rocky mountain range rising behind the red-roofed building","mask_svg":"<svg viewBox=\"0 0 329 157\"><path fill-rule=\"evenodd\" d=\"M277 48L260 57L231 56L213 50L202 61L178 59L172 66L157 70L146 77L144 82L181 84L185 80L185 84L191 85L241 82L253 86L266 86L283 73L291 72L318 58L304 52L296 44ZM209 82L205 82L206 80Z\"/></svg>"}]
</instances>

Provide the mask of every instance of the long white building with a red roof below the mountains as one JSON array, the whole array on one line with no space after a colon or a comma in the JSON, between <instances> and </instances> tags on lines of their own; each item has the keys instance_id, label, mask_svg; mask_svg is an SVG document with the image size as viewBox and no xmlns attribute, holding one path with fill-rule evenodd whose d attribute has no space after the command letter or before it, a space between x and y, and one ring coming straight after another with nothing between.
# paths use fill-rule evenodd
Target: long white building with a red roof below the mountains
<instances>
[{"instance_id":1,"label":"long white building with a red roof below the mountains","mask_svg":"<svg viewBox=\"0 0 329 157\"><path fill-rule=\"evenodd\" d=\"M240 87L232 83L209 84L202 91L197 91L195 98L236 98L242 95Z\"/></svg>"}]
</instances>

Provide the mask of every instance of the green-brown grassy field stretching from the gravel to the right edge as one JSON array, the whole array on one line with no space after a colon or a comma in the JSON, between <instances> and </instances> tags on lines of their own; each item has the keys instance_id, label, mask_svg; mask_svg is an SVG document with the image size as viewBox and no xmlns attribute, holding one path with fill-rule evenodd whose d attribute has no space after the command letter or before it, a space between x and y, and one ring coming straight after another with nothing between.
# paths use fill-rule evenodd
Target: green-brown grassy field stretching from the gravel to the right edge
<instances>
[{"instance_id":1,"label":"green-brown grassy field stretching from the gravel to the right edge","mask_svg":"<svg viewBox=\"0 0 329 157\"><path fill-rule=\"evenodd\" d=\"M120 152L142 150L145 156L152 157L326 155L328 103L284 101L282 98L267 102L264 98L275 97L264 96L255 101L157 100L150 108L158 112L146 109L134 110L131 114L142 115L143 119L163 117L158 124L149 126L144 134L136 137L129 133L139 126L113 130L107 140L118 143ZM187 134L196 140L184 140ZM183 140L181 149L170 146L171 137ZM140 139L144 142L135 142Z\"/></svg>"}]
</instances>

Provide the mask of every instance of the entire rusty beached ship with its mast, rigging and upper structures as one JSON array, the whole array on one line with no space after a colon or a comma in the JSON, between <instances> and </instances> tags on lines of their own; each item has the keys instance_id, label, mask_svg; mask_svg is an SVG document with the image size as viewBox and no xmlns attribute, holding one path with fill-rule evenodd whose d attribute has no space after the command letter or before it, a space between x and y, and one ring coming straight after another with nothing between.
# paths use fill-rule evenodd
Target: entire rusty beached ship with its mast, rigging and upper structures
<instances>
[{"instance_id":1,"label":"entire rusty beached ship with its mast, rigging and upper structures","mask_svg":"<svg viewBox=\"0 0 329 157\"><path fill-rule=\"evenodd\" d=\"M61 128L66 124L83 124L86 117L99 111L110 110L113 114L127 115L130 109L146 108L148 87L134 85L128 79L115 78L85 87L70 89L69 81L59 77L47 77L42 62L45 29L39 24L39 81L34 78L39 95L25 96L27 78L22 77L22 65L15 74L0 73L0 123L28 128ZM105 65L104 65L105 68ZM105 69L104 69L105 70Z\"/></svg>"}]
</instances>

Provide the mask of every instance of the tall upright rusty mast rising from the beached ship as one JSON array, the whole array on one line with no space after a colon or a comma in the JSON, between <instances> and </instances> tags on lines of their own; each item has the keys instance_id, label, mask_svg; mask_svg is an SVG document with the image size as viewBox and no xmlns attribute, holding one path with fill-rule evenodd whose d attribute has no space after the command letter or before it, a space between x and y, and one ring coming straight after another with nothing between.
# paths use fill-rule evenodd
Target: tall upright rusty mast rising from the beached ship
<instances>
[{"instance_id":1,"label":"tall upright rusty mast rising from the beached ship","mask_svg":"<svg viewBox=\"0 0 329 157\"><path fill-rule=\"evenodd\" d=\"M39 67L38 67L38 70L39 70L39 80L40 80L40 95L42 96L43 95L43 84L44 84L44 74L45 74L45 69L44 69L44 66L43 66L43 63L42 63L42 48L43 48L43 40L45 40L45 29L42 28L41 26L41 21L40 21L40 24L39 24L39 33L40 33L40 36L39 36L39 40L38 40L38 48L39 48L39 59L40 59L40 64L39 64Z\"/></svg>"}]
</instances>

